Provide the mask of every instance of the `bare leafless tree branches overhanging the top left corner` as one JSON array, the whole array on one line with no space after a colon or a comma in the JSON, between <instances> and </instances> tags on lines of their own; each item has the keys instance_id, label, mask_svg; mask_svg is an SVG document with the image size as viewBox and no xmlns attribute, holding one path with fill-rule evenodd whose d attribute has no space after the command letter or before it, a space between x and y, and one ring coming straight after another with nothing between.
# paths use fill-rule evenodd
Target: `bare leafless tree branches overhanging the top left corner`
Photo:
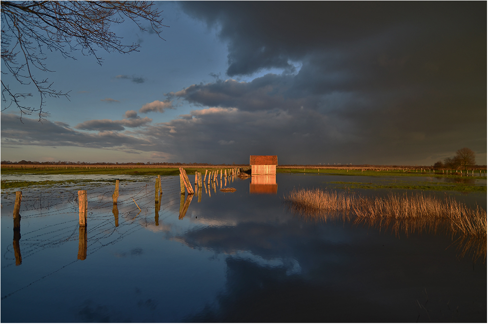
<instances>
[{"instance_id":1,"label":"bare leafless tree branches overhanging the top left corner","mask_svg":"<svg viewBox=\"0 0 488 324\"><path fill-rule=\"evenodd\" d=\"M122 44L122 38L110 30L112 23L122 23L124 18L135 22L141 30L140 20L149 22L152 30L160 35L163 18L161 12L148 1L1 1L1 73L10 75L20 85L34 86L39 92L38 107L22 104L31 97L29 92L16 92L1 80L2 101L7 107L14 105L22 114L45 113L45 98L68 97L68 92L56 90L47 79L37 79L34 72L53 72L44 63L46 52L60 52L64 58L75 59L73 52L95 56L97 48L107 52L130 53L138 51L139 44ZM3 79L3 78L2 78Z\"/></svg>"}]
</instances>

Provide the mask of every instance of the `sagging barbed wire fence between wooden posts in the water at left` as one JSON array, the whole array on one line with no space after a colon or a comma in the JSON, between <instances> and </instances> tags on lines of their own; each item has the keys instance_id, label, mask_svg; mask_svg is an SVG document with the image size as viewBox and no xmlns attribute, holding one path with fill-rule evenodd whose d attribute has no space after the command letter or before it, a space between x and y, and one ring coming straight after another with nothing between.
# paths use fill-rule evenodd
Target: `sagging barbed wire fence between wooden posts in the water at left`
<instances>
[{"instance_id":1,"label":"sagging barbed wire fence between wooden posts in the water at left","mask_svg":"<svg viewBox=\"0 0 488 324\"><path fill-rule=\"evenodd\" d=\"M160 202L155 203L154 182L123 182L119 187L119 198L114 205L113 185L96 184L84 186L87 191L88 213L86 227L86 255L96 253L104 246L114 244L124 237L141 230L137 216L142 210L158 209L163 216L180 201L180 182L176 177L164 178ZM2 214L11 217L10 210L15 204L16 195L4 193L1 196ZM36 221L38 226L21 233L21 260L14 244L6 246L1 268L19 264L37 253L80 240L78 188L34 188L22 192L20 215L22 222ZM169 215L168 215L169 216ZM42 225L43 219L49 221ZM58 220L59 221L56 221ZM31 226L29 226L30 228ZM20 238L20 235L19 235Z\"/></svg>"}]
</instances>

